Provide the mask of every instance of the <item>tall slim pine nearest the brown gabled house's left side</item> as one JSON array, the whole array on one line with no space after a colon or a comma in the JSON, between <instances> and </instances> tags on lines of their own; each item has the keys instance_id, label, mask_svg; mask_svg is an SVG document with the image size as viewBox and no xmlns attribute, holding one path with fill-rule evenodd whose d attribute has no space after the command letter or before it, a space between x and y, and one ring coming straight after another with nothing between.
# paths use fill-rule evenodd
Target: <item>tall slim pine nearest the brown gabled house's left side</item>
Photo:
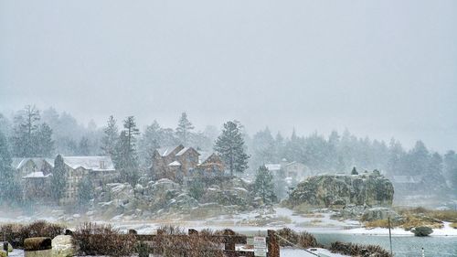
<instances>
[{"instance_id":1,"label":"tall slim pine nearest the brown gabled house's left side","mask_svg":"<svg viewBox=\"0 0 457 257\"><path fill-rule=\"evenodd\" d=\"M139 177L135 136L140 132L133 116L129 116L123 121L123 128L116 147L116 168L121 171L122 179L134 186Z\"/></svg>"}]
</instances>

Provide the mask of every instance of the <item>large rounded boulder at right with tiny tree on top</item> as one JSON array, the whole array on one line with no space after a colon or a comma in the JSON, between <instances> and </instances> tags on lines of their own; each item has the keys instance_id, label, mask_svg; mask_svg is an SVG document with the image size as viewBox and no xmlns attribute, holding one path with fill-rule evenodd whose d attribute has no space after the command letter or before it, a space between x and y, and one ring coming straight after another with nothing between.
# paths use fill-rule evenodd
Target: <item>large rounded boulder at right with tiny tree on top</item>
<instances>
[{"instance_id":1,"label":"large rounded boulder at right with tiny tree on top","mask_svg":"<svg viewBox=\"0 0 457 257\"><path fill-rule=\"evenodd\" d=\"M321 175L308 177L292 191L288 202L292 206L332 207L391 206L392 183L378 173L361 175Z\"/></svg>"}]
</instances>

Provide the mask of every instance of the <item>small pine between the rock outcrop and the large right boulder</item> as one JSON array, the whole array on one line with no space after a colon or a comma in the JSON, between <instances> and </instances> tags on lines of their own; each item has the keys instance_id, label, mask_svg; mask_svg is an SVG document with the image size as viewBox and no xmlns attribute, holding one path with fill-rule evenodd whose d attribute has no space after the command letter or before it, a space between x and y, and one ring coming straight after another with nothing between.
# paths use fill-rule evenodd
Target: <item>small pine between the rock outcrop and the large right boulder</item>
<instances>
[{"instance_id":1,"label":"small pine between the rock outcrop and the large right boulder","mask_svg":"<svg viewBox=\"0 0 457 257\"><path fill-rule=\"evenodd\" d=\"M266 166L260 166L256 173L254 191L264 203L276 201L274 194L273 176Z\"/></svg>"}]
</instances>

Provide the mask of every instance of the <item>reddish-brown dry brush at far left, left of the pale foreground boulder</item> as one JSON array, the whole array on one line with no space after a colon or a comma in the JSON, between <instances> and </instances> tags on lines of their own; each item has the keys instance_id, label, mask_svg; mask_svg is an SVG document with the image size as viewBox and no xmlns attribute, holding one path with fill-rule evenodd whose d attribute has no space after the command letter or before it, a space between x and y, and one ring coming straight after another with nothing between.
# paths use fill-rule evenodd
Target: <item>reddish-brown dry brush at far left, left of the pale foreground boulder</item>
<instances>
[{"instance_id":1,"label":"reddish-brown dry brush at far left, left of the pale foreground boulder","mask_svg":"<svg viewBox=\"0 0 457 257\"><path fill-rule=\"evenodd\" d=\"M48 223L38 220L28 225L5 224L0 227L0 234L5 235L5 240L9 241L14 248L24 248L24 240L33 237L54 237L63 234L65 228L58 224Z\"/></svg>"}]
</instances>

